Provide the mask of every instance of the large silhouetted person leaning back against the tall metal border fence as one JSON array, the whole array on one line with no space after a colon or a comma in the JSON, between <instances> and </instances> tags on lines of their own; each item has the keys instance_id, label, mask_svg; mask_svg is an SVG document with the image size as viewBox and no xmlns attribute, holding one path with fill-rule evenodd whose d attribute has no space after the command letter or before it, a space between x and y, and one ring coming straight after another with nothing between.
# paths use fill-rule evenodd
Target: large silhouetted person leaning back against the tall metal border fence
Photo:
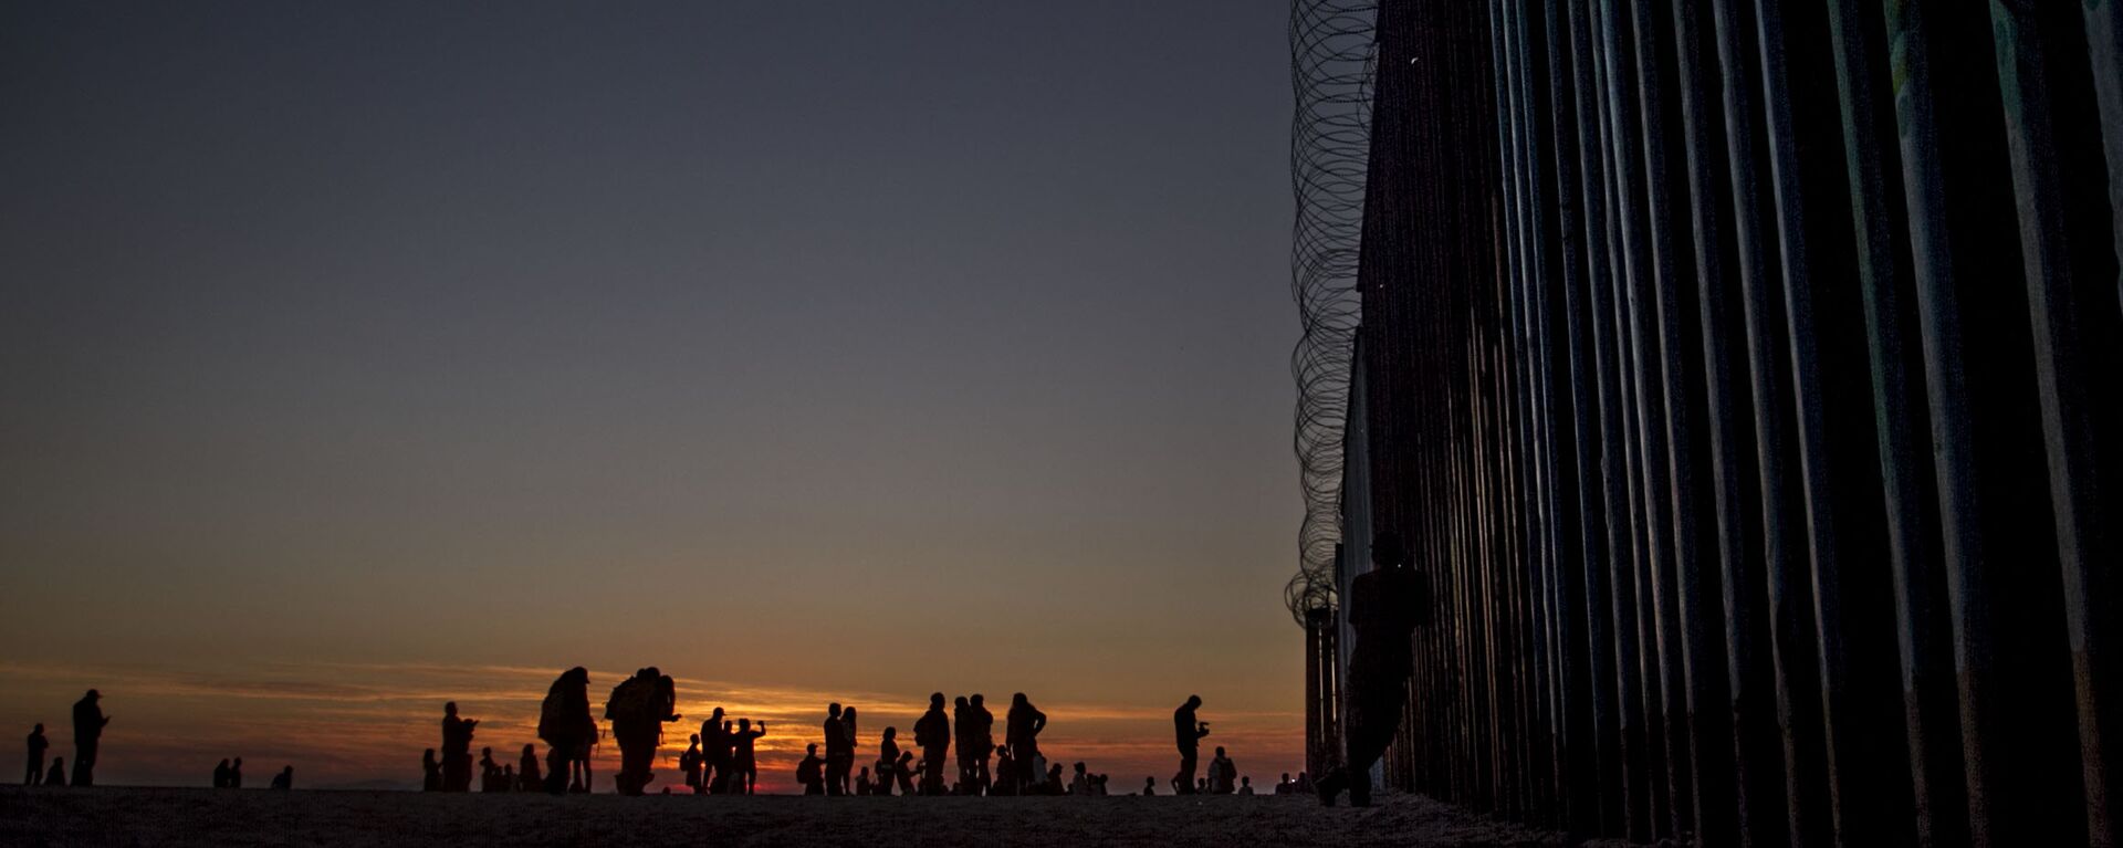
<instances>
[{"instance_id":1,"label":"large silhouetted person leaning back against the tall metal border fence","mask_svg":"<svg viewBox=\"0 0 2123 848\"><path fill-rule=\"evenodd\" d=\"M1429 610L1429 584L1408 567L1399 533L1378 533L1371 570L1348 584L1348 623L1357 640L1348 655L1348 706L1342 740L1348 757L1321 778L1321 803L1333 805L1348 788L1348 803L1371 803L1371 763L1386 752L1401 727L1408 676L1414 674L1416 633Z\"/></svg>"}]
</instances>

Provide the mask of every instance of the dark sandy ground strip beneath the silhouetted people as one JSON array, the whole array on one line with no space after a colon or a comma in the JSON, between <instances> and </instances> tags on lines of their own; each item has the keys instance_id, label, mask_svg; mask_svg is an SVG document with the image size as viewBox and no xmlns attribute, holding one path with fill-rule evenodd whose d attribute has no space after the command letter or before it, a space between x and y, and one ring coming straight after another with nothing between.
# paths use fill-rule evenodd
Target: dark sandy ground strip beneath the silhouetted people
<instances>
[{"instance_id":1,"label":"dark sandy ground strip beneath the silhouetted people","mask_svg":"<svg viewBox=\"0 0 2123 848\"><path fill-rule=\"evenodd\" d=\"M0 788L4 846L1558 846L1422 797L686 797Z\"/></svg>"}]
</instances>

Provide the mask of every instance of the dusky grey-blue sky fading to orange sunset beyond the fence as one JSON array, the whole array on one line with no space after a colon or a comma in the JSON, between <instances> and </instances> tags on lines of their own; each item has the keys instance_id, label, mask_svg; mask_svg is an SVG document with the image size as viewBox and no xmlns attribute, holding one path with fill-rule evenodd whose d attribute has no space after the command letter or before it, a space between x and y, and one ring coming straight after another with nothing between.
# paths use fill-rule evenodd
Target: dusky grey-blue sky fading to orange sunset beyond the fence
<instances>
[{"instance_id":1,"label":"dusky grey-blue sky fading to orange sunset beyond the fence","mask_svg":"<svg viewBox=\"0 0 2123 848\"><path fill-rule=\"evenodd\" d=\"M1287 15L0 4L8 746L414 786L658 665L769 788L930 691L1297 771Z\"/></svg>"}]
</instances>

